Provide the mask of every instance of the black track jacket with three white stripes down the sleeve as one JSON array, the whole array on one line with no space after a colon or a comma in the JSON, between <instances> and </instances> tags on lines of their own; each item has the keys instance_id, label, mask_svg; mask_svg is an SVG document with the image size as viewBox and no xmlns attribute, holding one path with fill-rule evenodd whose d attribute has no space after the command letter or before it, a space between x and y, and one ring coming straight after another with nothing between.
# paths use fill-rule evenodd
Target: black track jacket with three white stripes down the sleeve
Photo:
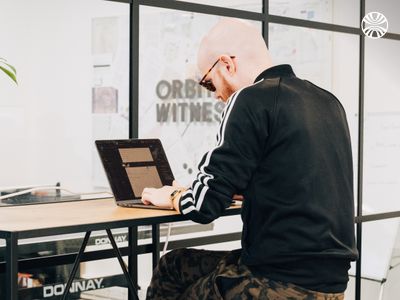
<instances>
[{"instance_id":1,"label":"black track jacket with three white stripes down the sleeve","mask_svg":"<svg viewBox=\"0 0 400 300\"><path fill-rule=\"evenodd\" d=\"M358 254L350 135L335 96L289 65L235 92L180 211L208 223L234 194L244 196L242 263L272 280L344 291Z\"/></svg>"}]
</instances>

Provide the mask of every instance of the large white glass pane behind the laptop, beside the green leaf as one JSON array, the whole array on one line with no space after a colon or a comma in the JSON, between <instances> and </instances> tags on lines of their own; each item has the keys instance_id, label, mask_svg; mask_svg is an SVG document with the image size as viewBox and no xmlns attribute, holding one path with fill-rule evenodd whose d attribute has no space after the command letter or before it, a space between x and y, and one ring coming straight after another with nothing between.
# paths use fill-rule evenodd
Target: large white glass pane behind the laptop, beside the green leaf
<instances>
[{"instance_id":1,"label":"large white glass pane behind the laptop, beside the green leaf","mask_svg":"<svg viewBox=\"0 0 400 300\"><path fill-rule=\"evenodd\" d=\"M128 137L129 5L8 0L0 22L0 185L108 190L94 140Z\"/></svg>"}]
</instances>

